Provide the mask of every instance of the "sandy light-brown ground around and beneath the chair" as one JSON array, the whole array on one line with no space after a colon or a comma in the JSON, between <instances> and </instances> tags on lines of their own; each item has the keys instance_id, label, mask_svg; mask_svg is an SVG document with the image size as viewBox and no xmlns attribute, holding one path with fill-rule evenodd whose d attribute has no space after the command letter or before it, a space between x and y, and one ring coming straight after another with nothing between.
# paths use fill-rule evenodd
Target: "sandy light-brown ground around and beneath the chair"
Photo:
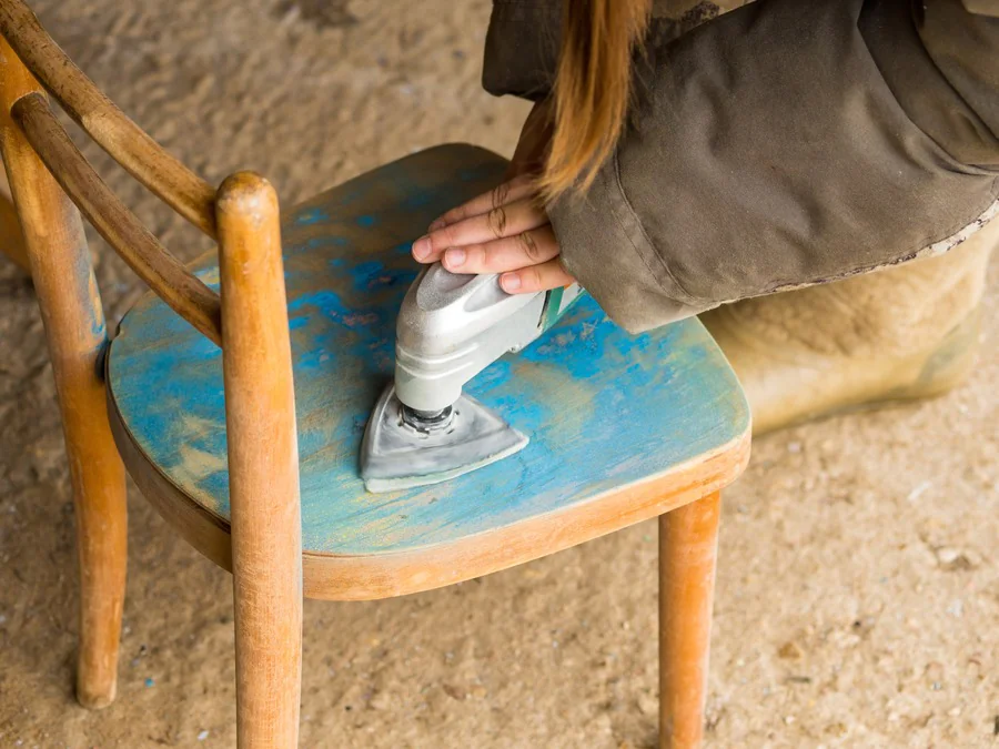
<instances>
[{"instance_id":1,"label":"sandy light-brown ground around and beneath the chair","mask_svg":"<svg viewBox=\"0 0 999 749\"><path fill-rule=\"evenodd\" d=\"M442 141L509 153L478 88L487 0L38 0L140 124L218 182L290 204ZM205 245L94 149L183 257ZM112 318L140 286L107 249ZM999 293L972 379L931 403L755 445L727 494L708 742L999 746ZM77 584L52 376L0 262L0 747L234 746L229 576L132 487L120 697L72 699ZM305 607L303 747L652 747L656 544L645 524L506 573Z\"/></svg>"}]
</instances>

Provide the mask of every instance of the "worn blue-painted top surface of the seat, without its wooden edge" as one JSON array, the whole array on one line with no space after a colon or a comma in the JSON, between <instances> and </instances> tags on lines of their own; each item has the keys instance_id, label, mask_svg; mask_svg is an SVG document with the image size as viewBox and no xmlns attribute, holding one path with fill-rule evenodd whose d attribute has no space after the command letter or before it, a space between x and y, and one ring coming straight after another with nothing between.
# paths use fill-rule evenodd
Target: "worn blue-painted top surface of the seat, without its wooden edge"
<instances>
[{"instance_id":1,"label":"worn blue-painted top surface of the seat, without its wooden edge","mask_svg":"<svg viewBox=\"0 0 999 749\"><path fill-rule=\"evenodd\" d=\"M434 217L492 188L504 165L471 148L431 151L285 217L306 548L376 554L446 543L640 480L747 428L735 376L696 320L629 336L584 297L541 340L467 387L531 436L524 451L440 486L364 490L357 451L392 378L395 316L418 270L408 243ZM369 215L377 225L361 225ZM216 280L214 257L200 261L198 272ZM143 298L112 344L109 372L142 449L196 502L228 517L218 347L161 302Z\"/></svg>"}]
</instances>

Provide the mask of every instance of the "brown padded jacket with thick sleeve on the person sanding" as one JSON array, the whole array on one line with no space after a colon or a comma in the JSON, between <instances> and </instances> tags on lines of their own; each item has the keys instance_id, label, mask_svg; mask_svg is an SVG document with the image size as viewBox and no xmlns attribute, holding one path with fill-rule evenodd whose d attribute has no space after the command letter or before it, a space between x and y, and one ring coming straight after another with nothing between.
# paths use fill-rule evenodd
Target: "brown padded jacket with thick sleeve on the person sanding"
<instances>
[{"instance_id":1,"label":"brown padded jacket with thick sleeve on the person sanding","mask_svg":"<svg viewBox=\"0 0 999 749\"><path fill-rule=\"evenodd\" d=\"M488 91L548 92L559 7L495 0ZM625 136L584 198L549 206L566 269L617 323L939 254L999 214L999 0L705 13L657 3Z\"/></svg>"}]
</instances>

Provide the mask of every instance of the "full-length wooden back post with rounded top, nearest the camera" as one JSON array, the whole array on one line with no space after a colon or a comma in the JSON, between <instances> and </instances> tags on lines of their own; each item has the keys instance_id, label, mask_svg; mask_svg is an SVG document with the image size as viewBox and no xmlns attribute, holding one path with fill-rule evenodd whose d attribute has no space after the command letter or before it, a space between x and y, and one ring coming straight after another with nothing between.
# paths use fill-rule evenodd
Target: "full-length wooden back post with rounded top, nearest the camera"
<instances>
[{"instance_id":1,"label":"full-length wooden back post with rounded top, nearest the camera","mask_svg":"<svg viewBox=\"0 0 999 749\"><path fill-rule=\"evenodd\" d=\"M225 423L241 749L297 746L302 520L278 196L239 173L219 190Z\"/></svg>"}]
</instances>

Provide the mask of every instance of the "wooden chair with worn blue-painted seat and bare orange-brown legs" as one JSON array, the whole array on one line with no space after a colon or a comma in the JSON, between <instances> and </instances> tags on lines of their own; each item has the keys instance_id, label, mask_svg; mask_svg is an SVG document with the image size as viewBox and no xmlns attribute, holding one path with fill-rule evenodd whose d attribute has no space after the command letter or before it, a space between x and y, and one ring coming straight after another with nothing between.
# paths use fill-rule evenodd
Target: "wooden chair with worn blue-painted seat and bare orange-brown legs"
<instances>
[{"instance_id":1,"label":"wooden chair with worn blue-painted seat and bare orange-brown legs","mask_svg":"<svg viewBox=\"0 0 999 749\"><path fill-rule=\"evenodd\" d=\"M525 451L438 486L366 494L357 451L391 377L395 314L416 272L408 243L494 185L505 162L465 145L426 151L286 212L279 229L266 181L238 173L210 188L115 109L20 0L0 0L0 146L75 502L80 702L102 707L115 692L123 458L178 532L233 573L240 746L296 743L303 593L427 590L656 516L660 743L697 746L718 493L749 451L746 402L702 325L633 337L581 303L468 387L531 435ZM215 237L218 255L176 262L77 151L42 88ZM80 213L155 292L110 345Z\"/></svg>"}]
</instances>

